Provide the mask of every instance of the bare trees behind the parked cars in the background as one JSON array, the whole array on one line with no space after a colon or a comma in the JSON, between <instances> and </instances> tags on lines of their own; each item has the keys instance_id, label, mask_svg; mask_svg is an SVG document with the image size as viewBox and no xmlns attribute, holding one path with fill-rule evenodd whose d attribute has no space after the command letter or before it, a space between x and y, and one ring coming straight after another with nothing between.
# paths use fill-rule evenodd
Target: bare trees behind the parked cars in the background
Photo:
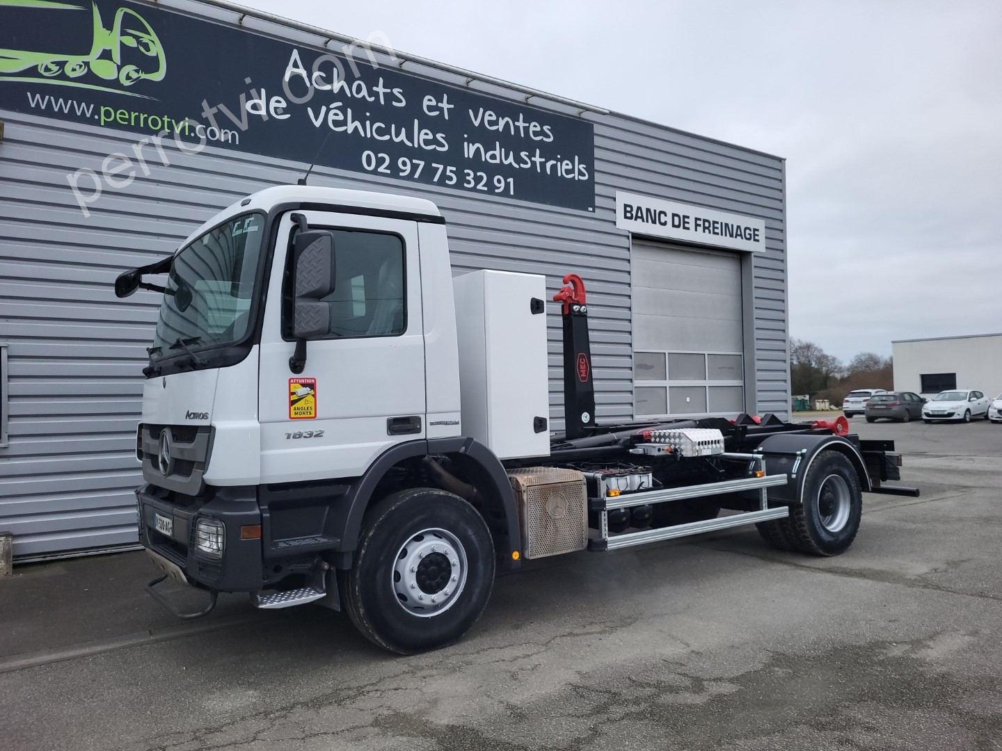
<instances>
[{"instance_id":1,"label":"bare trees behind the parked cars in the background","mask_svg":"<svg viewBox=\"0 0 1002 751\"><path fill-rule=\"evenodd\" d=\"M891 357L860 352L848 364L813 341L790 339L790 381L795 396L813 395L841 405L846 395L857 389L894 389Z\"/></svg>"}]
</instances>

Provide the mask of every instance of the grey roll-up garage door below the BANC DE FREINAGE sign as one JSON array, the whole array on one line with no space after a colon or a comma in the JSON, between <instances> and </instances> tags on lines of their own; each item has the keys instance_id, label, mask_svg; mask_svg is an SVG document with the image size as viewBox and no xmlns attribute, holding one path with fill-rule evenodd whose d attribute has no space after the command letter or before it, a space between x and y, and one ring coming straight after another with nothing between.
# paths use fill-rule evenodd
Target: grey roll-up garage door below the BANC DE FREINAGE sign
<instances>
[{"instance_id":1,"label":"grey roll-up garage door below the BANC DE FREINAGE sign","mask_svg":"<svg viewBox=\"0 0 1002 751\"><path fill-rule=\"evenodd\" d=\"M634 416L742 412L740 256L634 238L630 276Z\"/></svg>"}]
</instances>

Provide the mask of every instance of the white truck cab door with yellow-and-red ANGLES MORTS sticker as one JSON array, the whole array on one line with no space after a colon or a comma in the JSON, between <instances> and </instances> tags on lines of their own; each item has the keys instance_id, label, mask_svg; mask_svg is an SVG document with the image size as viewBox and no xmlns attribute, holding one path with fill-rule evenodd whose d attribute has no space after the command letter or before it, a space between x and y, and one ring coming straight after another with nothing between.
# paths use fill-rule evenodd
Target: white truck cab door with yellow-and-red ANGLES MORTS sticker
<instances>
[{"instance_id":1,"label":"white truck cab door with yellow-and-red ANGLES MORTS sticker","mask_svg":"<svg viewBox=\"0 0 1002 751\"><path fill-rule=\"evenodd\" d=\"M307 342L300 373L289 365L293 213L331 230L337 268L324 298L329 334ZM263 483L358 477L395 444L425 438L421 307L416 222L326 211L282 217L261 339Z\"/></svg>"}]
</instances>

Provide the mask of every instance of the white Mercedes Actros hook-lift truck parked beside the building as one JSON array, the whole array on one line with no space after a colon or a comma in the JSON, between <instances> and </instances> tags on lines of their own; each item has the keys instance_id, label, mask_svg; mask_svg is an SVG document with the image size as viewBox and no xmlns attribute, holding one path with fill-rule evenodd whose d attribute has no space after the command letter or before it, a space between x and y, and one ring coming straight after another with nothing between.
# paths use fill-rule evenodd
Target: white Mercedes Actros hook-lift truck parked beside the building
<instances>
[{"instance_id":1,"label":"white Mercedes Actros hook-lift truck parked beside the building","mask_svg":"<svg viewBox=\"0 0 1002 751\"><path fill-rule=\"evenodd\" d=\"M917 495L885 485L893 443L845 419L596 424L584 283L563 281L548 300L539 275L453 277L434 203L305 185L255 193L123 272L119 297L163 295L136 435L139 536L163 572L148 592L182 618L219 592L317 602L409 654L462 637L523 559L745 524L831 556L863 492ZM180 612L166 577L204 608Z\"/></svg>"}]
</instances>

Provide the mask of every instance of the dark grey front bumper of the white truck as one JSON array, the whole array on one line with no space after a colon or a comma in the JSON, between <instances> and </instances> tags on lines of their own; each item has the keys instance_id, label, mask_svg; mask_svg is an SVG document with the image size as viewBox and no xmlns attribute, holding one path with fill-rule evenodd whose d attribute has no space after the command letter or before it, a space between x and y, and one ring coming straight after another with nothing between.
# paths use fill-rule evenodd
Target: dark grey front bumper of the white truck
<instances>
[{"instance_id":1,"label":"dark grey front bumper of the white truck","mask_svg":"<svg viewBox=\"0 0 1002 751\"><path fill-rule=\"evenodd\" d=\"M157 556L183 573L188 584L219 592L254 592L262 587L261 540L241 540L240 527L261 524L255 488L220 488L208 496L183 497L155 486L136 491L139 507L139 540ZM155 516L172 521L172 534L156 529ZM209 558L194 546L199 517L219 521L224 530L221 558Z\"/></svg>"}]
</instances>

